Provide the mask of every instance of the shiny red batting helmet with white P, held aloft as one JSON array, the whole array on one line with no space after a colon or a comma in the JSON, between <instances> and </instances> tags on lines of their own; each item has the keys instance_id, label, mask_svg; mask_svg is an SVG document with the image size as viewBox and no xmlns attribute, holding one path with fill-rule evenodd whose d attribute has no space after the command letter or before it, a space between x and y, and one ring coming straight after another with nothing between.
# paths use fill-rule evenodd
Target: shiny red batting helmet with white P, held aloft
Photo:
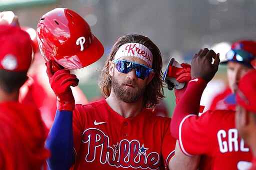
<instances>
[{"instance_id":1,"label":"shiny red batting helmet with white P, held aloft","mask_svg":"<svg viewBox=\"0 0 256 170\"><path fill-rule=\"evenodd\" d=\"M67 8L55 8L40 18L37 40L45 61L56 61L71 70L92 64L104 52L88 23Z\"/></svg>"}]
</instances>

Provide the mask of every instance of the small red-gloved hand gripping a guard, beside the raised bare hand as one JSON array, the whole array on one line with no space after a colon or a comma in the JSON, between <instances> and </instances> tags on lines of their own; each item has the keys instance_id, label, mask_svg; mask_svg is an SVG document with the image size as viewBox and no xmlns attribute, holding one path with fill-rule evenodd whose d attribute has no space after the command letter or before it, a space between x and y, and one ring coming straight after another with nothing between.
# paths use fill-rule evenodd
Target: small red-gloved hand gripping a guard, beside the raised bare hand
<instances>
[{"instance_id":1,"label":"small red-gloved hand gripping a guard, beside the raised bare hand","mask_svg":"<svg viewBox=\"0 0 256 170\"><path fill-rule=\"evenodd\" d=\"M191 65L187 64L187 63L181 63L180 66L183 68L176 72L177 82L183 83L183 82L190 81L191 80L191 75L190 75Z\"/></svg>"}]
</instances>

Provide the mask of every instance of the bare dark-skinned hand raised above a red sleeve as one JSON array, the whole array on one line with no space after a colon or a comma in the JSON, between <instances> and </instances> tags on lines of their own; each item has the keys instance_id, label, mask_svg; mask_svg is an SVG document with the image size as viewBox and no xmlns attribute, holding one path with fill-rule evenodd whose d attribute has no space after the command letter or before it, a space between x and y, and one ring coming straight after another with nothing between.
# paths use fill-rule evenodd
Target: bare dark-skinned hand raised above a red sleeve
<instances>
[{"instance_id":1,"label":"bare dark-skinned hand raised above a red sleeve","mask_svg":"<svg viewBox=\"0 0 256 170\"><path fill-rule=\"evenodd\" d=\"M219 61L219 53L207 48L200 49L191 61L191 78L200 77L208 83L217 72Z\"/></svg>"}]
</instances>

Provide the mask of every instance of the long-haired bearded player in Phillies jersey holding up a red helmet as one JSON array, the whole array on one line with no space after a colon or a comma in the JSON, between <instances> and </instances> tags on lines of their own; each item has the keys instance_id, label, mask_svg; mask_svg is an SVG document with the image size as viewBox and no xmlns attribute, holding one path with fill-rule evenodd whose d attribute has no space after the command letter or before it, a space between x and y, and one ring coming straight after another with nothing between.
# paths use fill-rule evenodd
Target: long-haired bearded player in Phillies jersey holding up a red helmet
<instances>
[{"instance_id":1,"label":"long-haired bearded player in Phillies jersey holding up a red helmet","mask_svg":"<svg viewBox=\"0 0 256 170\"><path fill-rule=\"evenodd\" d=\"M101 43L77 13L65 8L43 15L37 34L57 98L56 116L45 144L51 151L49 168L170 169L176 143L169 131L171 119L148 109L163 98L158 47L139 34L121 36L101 71L99 87L106 98L75 105L70 86L77 86L78 81L69 69L99 59Z\"/></svg>"}]
</instances>

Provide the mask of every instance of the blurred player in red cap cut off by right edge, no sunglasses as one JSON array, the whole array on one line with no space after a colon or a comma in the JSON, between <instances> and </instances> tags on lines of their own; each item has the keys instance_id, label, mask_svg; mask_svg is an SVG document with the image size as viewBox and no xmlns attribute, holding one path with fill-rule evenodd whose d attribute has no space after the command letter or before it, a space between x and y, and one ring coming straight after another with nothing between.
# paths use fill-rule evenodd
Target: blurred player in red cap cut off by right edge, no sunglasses
<instances>
[{"instance_id":1,"label":"blurred player in red cap cut off by right edge, no sunglasses","mask_svg":"<svg viewBox=\"0 0 256 170\"><path fill-rule=\"evenodd\" d=\"M245 143L251 148L253 159L250 170L256 170L256 70L247 72L238 83L235 127ZM234 104L235 104L234 103Z\"/></svg>"}]
</instances>

